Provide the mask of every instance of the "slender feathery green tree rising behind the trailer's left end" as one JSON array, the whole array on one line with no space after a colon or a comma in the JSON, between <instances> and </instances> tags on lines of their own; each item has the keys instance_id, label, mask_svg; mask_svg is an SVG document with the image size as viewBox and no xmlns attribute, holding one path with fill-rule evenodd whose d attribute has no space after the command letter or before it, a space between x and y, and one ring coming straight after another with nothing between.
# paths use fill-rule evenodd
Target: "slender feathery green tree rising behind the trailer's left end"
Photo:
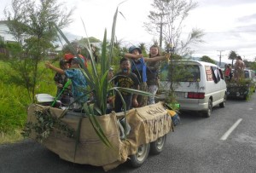
<instances>
[{"instance_id":1,"label":"slender feathery green tree rising behind the trailer's left end","mask_svg":"<svg viewBox=\"0 0 256 173\"><path fill-rule=\"evenodd\" d=\"M11 61L12 68L18 73L13 77L17 79L16 84L26 87L28 96L34 102L40 77L38 64L48 55L49 49L55 49L55 26L63 28L70 24L72 12L61 10L56 0L13 0L12 9L13 12L5 11L9 30L23 46L19 58Z\"/></svg>"}]
</instances>

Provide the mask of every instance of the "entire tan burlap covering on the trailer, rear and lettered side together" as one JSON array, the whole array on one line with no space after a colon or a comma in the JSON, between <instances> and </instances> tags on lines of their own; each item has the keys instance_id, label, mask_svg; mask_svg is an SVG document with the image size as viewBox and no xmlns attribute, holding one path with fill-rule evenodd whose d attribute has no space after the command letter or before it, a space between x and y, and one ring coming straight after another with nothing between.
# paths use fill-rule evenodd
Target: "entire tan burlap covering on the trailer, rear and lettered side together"
<instances>
[{"instance_id":1,"label":"entire tan burlap covering on the trailer, rear and lettered side together","mask_svg":"<svg viewBox=\"0 0 256 173\"><path fill-rule=\"evenodd\" d=\"M27 122L37 123L34 112L45 108L49 108L51 115L57 118L63 112L53 107L32 105L28 107ZM119 138L119 128L114 112L96 118L113 147L107 147L96 135L89 118L82 118L76 152L76 140L61 135L61 131L56 129L44 140L43 145L57 153L61 159L78 164L102 166L104 170L111 170L124 163L130 155L135 154L137 147L165 136L173 128L172 119L167 115L162 103L131 109L127 112L126 119L131 125L131 132L123 141ZM74 130L79 126L79 118L61 118L61 121ZM36 140L36 133L32 131L30 137Z\"/></svg>"}]
</instances>

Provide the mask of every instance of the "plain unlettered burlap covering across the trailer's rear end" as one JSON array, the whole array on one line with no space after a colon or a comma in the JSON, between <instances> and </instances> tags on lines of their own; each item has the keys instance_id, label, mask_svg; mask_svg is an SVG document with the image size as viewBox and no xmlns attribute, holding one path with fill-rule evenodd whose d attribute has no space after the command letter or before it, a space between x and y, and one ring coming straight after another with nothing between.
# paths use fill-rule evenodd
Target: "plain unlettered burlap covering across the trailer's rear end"
<instances>
[{"instance_id":1,"label":"plain unlettered burlap covering across the trailer's rear end","mask_svg":"<svg viewBox=\"0 0 256 173\"><path fill-rule=\"evenodd\" d=\"M28 108L27 122L36 123L37 119L34 116L36 110L49 108L38 105L32 105ZM50 107L50 112L53 116L59 117L60 109ZM101 139L96 135L95 130L90 124L89 118L82 118L81 131L79 138L79 145L75 154L76 140L61 136L59 130L53 130L50 136L43 141L43 145L54 153L57 153L61 159L78 163L78 164L91 164L96 166L106 165L106 170L113 169L118 164L123 163L126 159L121 159L119 139L119 129L117 126L117 119L113 113L96 117L102 130L108 137L113 147L107 147ZM79 118L61 118L61 121L68 124L69 127L77 130L79 125ZM35 132L30 136L36 139ZM113 164L115 163L115 164ZM110 166L108 164L111 164Z\"/></svg>"}]
</instances>

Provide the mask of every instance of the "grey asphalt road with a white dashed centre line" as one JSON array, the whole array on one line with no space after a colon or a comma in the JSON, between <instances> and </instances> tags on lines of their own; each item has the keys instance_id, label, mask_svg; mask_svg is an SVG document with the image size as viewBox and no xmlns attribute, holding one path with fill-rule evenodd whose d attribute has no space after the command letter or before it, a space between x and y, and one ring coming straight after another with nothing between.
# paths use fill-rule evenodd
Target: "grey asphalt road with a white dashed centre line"
<instances>
[{"instance_id":1,"label":"grey asphalt road with a white dashed centre line","mask_svg":"<svg viewBox=\"0 0 256 173\"><path fill-rule=\"evenodd\" d=\"M250 101L228 100L211 118L181 115L182 124L167 136L165 150L140 168L120 164L108 172L256 172L256 94ZM230 131L237 120L240 123ZM0 146L0 172L104 172L102 167L73 164L34 141Z\"/></svg>"}]
</instances>

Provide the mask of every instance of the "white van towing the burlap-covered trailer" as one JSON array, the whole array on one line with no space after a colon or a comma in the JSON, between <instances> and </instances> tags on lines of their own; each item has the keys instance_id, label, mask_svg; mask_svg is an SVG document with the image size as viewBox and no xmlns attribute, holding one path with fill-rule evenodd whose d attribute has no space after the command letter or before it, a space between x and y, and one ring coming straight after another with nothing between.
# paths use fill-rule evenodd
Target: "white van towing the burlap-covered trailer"
<instances>
[{"instance_id":1,"label":"white van towing the burlap-covered trailer","mask_svg":"<svg viewBox=\"0 0 256 173\"><path fill-rule=\"evenodd\" d=\"M169 65L170 66L170 65ZM210 117L212 107L225 107L226 83L221 69L212 63L203 61L175 61L183 70L183 77L172 84L181 111L200 111ZM160 72L160 98L170 90L170 70L166 66Z\"/></svg>"}]
</instances>

